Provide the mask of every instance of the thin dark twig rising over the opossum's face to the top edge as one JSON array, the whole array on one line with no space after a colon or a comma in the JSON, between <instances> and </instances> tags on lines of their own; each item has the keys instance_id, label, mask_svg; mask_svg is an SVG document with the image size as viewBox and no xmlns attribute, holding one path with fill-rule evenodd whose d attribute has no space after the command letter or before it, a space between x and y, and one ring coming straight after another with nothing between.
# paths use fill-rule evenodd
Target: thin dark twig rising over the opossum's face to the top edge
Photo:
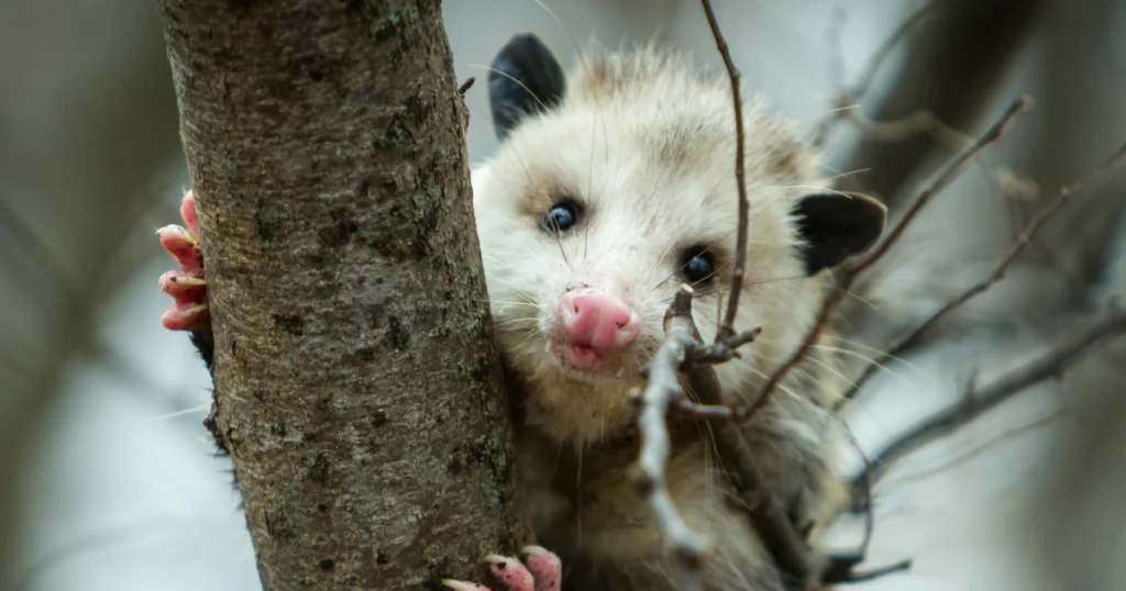
<instances>
[{"instance_id":1,"label":"thin dark twig rising over the opossum's face to the top edge","mask_svg":"<svg viewBox=\"0 0 1126 591\"><path fill-rule=\"evenodd\" d=\"M747 200L747 179L743 165L747 159L747 137L743 129L743 99L740 92L740 73L735 63L731 60L731 50L720 30L720 23L715 18L715 10L712 9L709 0L700 0L704 14L707 16L708 27L712 28L712 36L715 38L715 47L723 57L723 65L727 69L727 77L731 78L731 101L735 111L735 182L739 187L739 230L735 235L735 267L731 274L731 295L727 301L727 313L723 319L723 324L716 333L716 340L727 338L735 333L735 313L739 312L739 295L743 290L743 270L747 267L747 216L750 212L750 203Z\"/></svg>"}]
</instances>

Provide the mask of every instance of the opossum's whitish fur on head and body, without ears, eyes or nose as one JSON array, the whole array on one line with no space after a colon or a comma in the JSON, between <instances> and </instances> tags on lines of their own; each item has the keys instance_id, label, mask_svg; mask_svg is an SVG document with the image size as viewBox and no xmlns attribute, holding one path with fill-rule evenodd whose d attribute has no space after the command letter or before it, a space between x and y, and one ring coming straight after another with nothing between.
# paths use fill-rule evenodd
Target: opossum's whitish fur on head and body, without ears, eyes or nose
<instances>
[{"instance_id":1,"label":"opossum's whitish fur on head and body, without ears, eyes or nose","mask_svg":"<svg viewBox=\"0 0 1126 591\"><path fill-rule=\"evenodd\" d=\"M590 60L591 57L588 57ZM600 442L631 423L627 392L643 385L641 362L663 338L681 249L714 245L720 278L701 290L694 317L714 338L726 303L738 225L735 134L730 81L653 50L610 54L572 72L557 109L522 122L473 171L485 278L501 350L524 386L524 482L540 540L569 562L590 565L602 589L671 589L662 543L620 466L587 475L574 503L552 486L561 449L597 464ZM718 367L729 400L753 395L763 376L808 330L823 278L807 278L789 209L821 190L816 160L758 99L743 106L751 202L747 271L738 329L762 326L762 343ZM580 224L556 236L540 218L564 197L583 204ZM643 328L620 377L571 375L548 350L555 305L569 287L599 285L623 296ZM822 410L839 392L833 359L820 355L792 373L747 437L775 492L801 496L813 519L831 504L828 465L835 421ZM717 548L708 589L780 589L745 518L727 508L709 459L711 441L682 446L669 466L672 495ZM614 465L613 463L609 463ZM819 509L813 509L817 507ZM593 583L592 583L593 584Z\"/></svg>"}]
</instances>

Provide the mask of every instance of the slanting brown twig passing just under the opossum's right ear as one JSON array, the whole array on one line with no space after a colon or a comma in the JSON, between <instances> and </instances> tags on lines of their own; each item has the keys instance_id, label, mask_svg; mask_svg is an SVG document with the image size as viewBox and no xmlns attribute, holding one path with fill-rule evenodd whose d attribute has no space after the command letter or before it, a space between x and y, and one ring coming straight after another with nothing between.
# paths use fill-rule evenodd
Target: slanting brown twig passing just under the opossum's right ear
<instances>
[{"instance_id":1,"label":"slanting brown twig passing just under the opossum's right ear","mask_svg":"<svg viewBox=\"0 0 1126 591\"><path fill-rule=\"evenodd\" d=\"M973 160L978 152L1001 137L1012 118L1016 117L1018 113L1027 108L1030 101L1031 100L1028 97L1017 97L993 125L985 129L985 132L980 135L973 144L963 150L950 162L948 162L935 180L919 191L919 195L900 218L899 223L892 227L879 244L877 244L867 254L861 257L850 257L841 265L841 269L837 275L835 289L832 289L829 295L825 296L825 299L821 305L821 310L817 312L816 319L813 322L813 326L806 333L802 344L770 375L766 384L763 384L762 388L759 391L759 395L751 406L748 409L740 409L738 411L738 418L740 420L745 420L761 410L767 402L769 402L770 394L778 383L780 383L790 369L796 367L797 364L799 364L802 359L808 355L810 349L816 344L817 339L821 337L821 332L824 330L833 308L835 308L842 295L848 292L849 287L852 286L852 280L856 279L857 275L875 265L876 261L878 261L879 258L883 257L884 253L886 253L903 235L903 232L914 221L919 212L922 211L928 203L930 203L930 199L946 188L958 176L958 173L962 172L966 163Z\"/></svg>"}]
</instances>

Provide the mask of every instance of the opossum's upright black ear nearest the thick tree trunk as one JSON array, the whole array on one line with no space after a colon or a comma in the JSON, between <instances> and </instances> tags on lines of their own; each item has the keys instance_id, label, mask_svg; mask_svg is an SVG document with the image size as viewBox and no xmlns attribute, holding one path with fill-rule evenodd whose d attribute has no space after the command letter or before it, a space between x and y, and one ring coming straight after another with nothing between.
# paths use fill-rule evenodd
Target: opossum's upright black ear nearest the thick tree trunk
<instances>
[{"instance_id":1,"label":"opossum's upright black ear nearest the thick tree trunk","mask_svg":"<svg viewBox=\"0 0 1126 591\"><path fill-rule=\"evenodd\" d=\"M524 117L563 99L566 75L555 54L530 33L513 35L493 57L489 72L489 102L498 140Z\"/></svg>"}]
</instances>

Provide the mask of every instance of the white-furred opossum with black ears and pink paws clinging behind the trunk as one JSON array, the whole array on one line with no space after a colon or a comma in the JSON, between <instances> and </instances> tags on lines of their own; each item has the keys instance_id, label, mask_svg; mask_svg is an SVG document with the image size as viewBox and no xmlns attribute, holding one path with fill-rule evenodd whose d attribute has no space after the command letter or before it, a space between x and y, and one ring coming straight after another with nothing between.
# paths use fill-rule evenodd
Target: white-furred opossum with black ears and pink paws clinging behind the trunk
<instances>
[{"instance_id":1,"label":"white-furred opossum with black ears and pink paws clinging behind the trunk","mask_svg":"<svg viewBox=\"0 0 1126 591\"><path fill-rule=\"evenodd\" d=\"M661 536L627 478L637 453L628 393L644 386L640 368L660 347L680 285L695 289L703 338L717 331L739 223L730 79L653 45L590 53L569 74L536 36L519 34L493 61L489 97L501 143L472 170L473 205L518 397L521 485L543 545L529 548L527 564L490 556L493 572L517 590L676 589ZM870 247L886 221L877 202L829 189L815 151L762 99L748 99L742 113L750 215L736 326L762 332L716 368L732 402L751 399L799 344L829 286L826 269ZM191 330L205 348L190 192L181 214L187 227L160 230L184 265L161 277L177 298L162 322ZM832 469L842 441L829 411L843 387L835 364L814 349L743 427L770 492L803 529L824 525L843 499ZM706 428L688 421L677 435L668 486L713 544L705 588L787 589L794 582L731 505Z\"/></svg>"}]
</instances>

